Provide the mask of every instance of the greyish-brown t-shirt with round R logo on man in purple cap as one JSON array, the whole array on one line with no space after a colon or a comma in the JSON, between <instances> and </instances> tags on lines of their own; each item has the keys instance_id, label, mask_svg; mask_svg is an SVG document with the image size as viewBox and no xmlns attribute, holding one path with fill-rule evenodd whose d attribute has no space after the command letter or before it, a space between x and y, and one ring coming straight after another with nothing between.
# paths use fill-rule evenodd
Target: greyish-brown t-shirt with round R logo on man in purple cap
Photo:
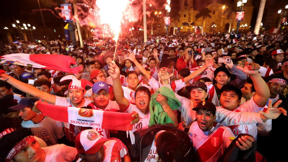
<instances>
[{"instance_id":1,"label":"greyish-brown t-shirt with round R logo on man in purple cap","mask_svg":"<svg viewBox=\"0 0 288 162\"><path fill-rule=\"evenodd\" d=\"M44 117L39 123L34 124L31 120L22 121L22 127L31 128L33 135L41 138L48 146L57 144L57 140L64 137L62 122Z\"/></svg>"}]
</instances>

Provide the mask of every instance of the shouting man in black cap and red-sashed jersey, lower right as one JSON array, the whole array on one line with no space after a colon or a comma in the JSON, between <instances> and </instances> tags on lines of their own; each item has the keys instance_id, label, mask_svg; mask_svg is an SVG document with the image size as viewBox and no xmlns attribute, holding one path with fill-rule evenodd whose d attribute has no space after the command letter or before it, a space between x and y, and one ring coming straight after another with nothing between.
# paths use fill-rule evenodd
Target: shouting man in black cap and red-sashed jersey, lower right
<instances>
[{"instance_id":1,"label":"shouting man in black cap and red-sashed jersey, lower right","mask_svg":"<svg viewBox=\"0 0 288 162\"><path fill-rule=\"evenodd\" d=\"M242 134L235 139L228 127L215 123L216 107L212 102L201 101L193 110L196 111L196 121L192 123L188 132L195 150L193 160L204 162L221 158L231 159L230 161L253 159L256 150L255 139L248 134ZM234 156L225 157L229 150L233 151Z\"/></svg>"}]
</instances>

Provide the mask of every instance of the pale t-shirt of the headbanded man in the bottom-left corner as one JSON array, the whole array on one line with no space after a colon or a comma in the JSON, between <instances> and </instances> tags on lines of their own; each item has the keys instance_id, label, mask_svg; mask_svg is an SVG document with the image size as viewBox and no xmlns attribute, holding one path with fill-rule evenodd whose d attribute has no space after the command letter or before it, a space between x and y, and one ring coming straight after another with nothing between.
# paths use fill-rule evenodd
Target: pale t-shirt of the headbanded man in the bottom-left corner
<instances>
[{"instance_id":1,"label":"pale t-shirt of the headbanded man in the bottom-left corner","mask_svg":"<svg viewBox=\"0 0 288 162\"><path fill-rule=\"evenodd\" d=\"M45 162L73 161L78 153L75 147L65 144L56 144L41 149L46 153Z\"/></svg>"}]
</instances>

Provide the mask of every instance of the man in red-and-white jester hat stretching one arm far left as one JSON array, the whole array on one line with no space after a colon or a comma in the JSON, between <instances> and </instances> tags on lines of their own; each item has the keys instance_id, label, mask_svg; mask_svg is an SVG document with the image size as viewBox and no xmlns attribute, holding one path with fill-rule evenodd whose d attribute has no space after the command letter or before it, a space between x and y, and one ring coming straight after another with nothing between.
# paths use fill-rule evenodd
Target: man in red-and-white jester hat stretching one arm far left
<instances>
[{"instance_id":1,"label":"man in red-and-white jester hat stretching one arm far left","mask_svg":"<svg viewBox=\"0 0 288 162\"><path fill-rule=\"evenodd\" d=\"M74 75L64 76L61 78L60 82L63 80L72 79L68 86L68 90L65 91L64 95L69 95L69 97L58 97L51 95L49 93L43 92L38 90L36 87L31 86L29 84L25 84L20 82L14 78L9 78L7 74L0 74L0 80L6 80L12 86L19 88L20 91L24 91L31 96L34 96L38 99L42 99L50 104L59 105L59 106L71 106L71 107L84 107L87 106L92 101L90 99L84 99L83 96L86 92L85 87L86 85L92 86L91 82L88 82L85 79L77 80ZM65 127L65 135L67 139L71 142L75 141L76 135L81 131L81 127L74 126L69 123L63 123Z\"/></svg>"}]
</instances>

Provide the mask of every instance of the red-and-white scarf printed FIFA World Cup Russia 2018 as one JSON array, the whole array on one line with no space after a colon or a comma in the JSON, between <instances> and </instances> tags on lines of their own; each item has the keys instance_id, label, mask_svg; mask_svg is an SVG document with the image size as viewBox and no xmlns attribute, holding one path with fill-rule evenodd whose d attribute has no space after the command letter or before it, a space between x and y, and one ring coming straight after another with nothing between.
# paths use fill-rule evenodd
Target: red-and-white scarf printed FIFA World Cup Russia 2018
<instances>
[{"instance_id":1,"label":"red-and-white scarf printed FIFA World Cup Russia 2018","mask_svg":"<svg viewBox=\"0 0 288 162\"><path fill-rule=\"evenodd\" d=\"M43 103L41 100L38 101L36 107L42 112L40 115L82 127L131 131L133 125L130 122L135 119L131 117L132 113L58 106Z\"/></svg>"}]
</instances>

